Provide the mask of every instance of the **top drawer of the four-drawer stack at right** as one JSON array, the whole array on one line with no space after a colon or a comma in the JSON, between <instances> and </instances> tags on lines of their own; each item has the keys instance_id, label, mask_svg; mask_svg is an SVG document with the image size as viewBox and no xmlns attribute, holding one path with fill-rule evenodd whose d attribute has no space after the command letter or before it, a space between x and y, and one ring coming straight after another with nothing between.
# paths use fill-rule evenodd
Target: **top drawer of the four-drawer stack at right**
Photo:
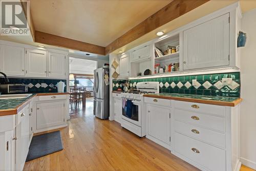
<instances>
[{"instance_id":1,"label":"top drawer of the four-drawer stack at right","mask_svg":"<svg viewBox=\"0 0 256 171\"><path fill-rule=\"evenodd\" d=\"M225 106L220 105L175 101L175 108L181 108L225 117Z\"/></svg>"}]
</instances>

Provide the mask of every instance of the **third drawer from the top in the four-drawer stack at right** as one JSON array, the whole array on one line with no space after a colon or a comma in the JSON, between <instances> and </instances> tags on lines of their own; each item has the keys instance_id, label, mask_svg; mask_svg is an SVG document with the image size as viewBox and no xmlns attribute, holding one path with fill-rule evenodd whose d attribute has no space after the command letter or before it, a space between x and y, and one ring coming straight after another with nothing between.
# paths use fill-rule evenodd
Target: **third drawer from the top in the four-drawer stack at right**
<instances>
[{"instance_id":1,"label":"third drawer from the top in the four-drawer stack at right","mask_svg":"<svg viewBox=\"0 0 256 171\"><path fill-rule=\"evenodd\" d=\"M175 132L225 148L225 134L188 123L175 121Z\"/></svg>"}]
</instances>

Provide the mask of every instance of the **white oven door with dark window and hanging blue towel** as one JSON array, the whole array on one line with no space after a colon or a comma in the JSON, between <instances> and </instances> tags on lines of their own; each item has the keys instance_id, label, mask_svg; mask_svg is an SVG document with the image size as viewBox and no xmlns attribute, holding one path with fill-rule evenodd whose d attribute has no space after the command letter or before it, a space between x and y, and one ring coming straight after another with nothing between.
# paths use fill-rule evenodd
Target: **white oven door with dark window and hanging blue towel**
<instances>
[{"instance_id":1,"label":"white oven door with dark window and hanging blue towel","mask_svg":"<svg viewBox=\"0 0 256 171\"><path fill-rule=\"evenodd\" d=\"M141 126L141 101L122 98L122 119Z\"/></svg>"}]
</instances>

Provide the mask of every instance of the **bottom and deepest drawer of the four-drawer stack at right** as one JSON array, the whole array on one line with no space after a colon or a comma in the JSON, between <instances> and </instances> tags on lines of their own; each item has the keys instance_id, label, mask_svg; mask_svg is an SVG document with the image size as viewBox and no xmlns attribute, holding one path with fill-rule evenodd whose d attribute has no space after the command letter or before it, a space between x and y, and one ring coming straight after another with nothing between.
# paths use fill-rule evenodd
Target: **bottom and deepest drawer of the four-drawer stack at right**
<instances>
[{"instance_id":1,"label":"bottom and deepest drawer of the four-drawer stack at right","mask_svg":"<svg viewBox=\"0 0 256 171\"><path fill-rule=\"evenodd\" d=\"M209 170L226 170L226 151L175 133L175 152Z\"/></svg>"}]
</instances>

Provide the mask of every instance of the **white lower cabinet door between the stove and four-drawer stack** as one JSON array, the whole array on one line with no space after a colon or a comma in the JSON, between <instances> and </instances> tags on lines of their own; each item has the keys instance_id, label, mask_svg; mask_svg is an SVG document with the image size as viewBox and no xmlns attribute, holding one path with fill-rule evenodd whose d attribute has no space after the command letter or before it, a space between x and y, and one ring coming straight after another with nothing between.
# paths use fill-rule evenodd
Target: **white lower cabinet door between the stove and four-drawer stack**
<instances>
[{"instance_id":1,"label":"white lower cabinet door between the stove and four-drawer stack","mask_svg":"<svg viewBox=\"0 0 256 171\"><path fill-rule=\"evenodd\" d=\"M170 110L154 105L147 107L148 135L170 144Z\"/></svg>"}]
</instances>

